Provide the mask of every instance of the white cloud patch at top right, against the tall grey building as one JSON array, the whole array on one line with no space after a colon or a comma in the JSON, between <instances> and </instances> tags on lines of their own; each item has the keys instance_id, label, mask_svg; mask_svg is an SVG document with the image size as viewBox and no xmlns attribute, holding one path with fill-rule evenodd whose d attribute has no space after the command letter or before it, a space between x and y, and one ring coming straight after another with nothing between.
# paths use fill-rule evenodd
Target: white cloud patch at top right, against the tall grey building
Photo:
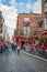
<instances>
[{"instance_id":1,"label":"white cloud patch at top right, against the tall grey building","mask_svg":"<svg viewBox=\"0 0 47 72\"><path fill-rule=\"evenodd\" d=\"M37 2L33 4L33 12L42 13L42 0L37 0Z\"/></svg>"}]
</instances>

